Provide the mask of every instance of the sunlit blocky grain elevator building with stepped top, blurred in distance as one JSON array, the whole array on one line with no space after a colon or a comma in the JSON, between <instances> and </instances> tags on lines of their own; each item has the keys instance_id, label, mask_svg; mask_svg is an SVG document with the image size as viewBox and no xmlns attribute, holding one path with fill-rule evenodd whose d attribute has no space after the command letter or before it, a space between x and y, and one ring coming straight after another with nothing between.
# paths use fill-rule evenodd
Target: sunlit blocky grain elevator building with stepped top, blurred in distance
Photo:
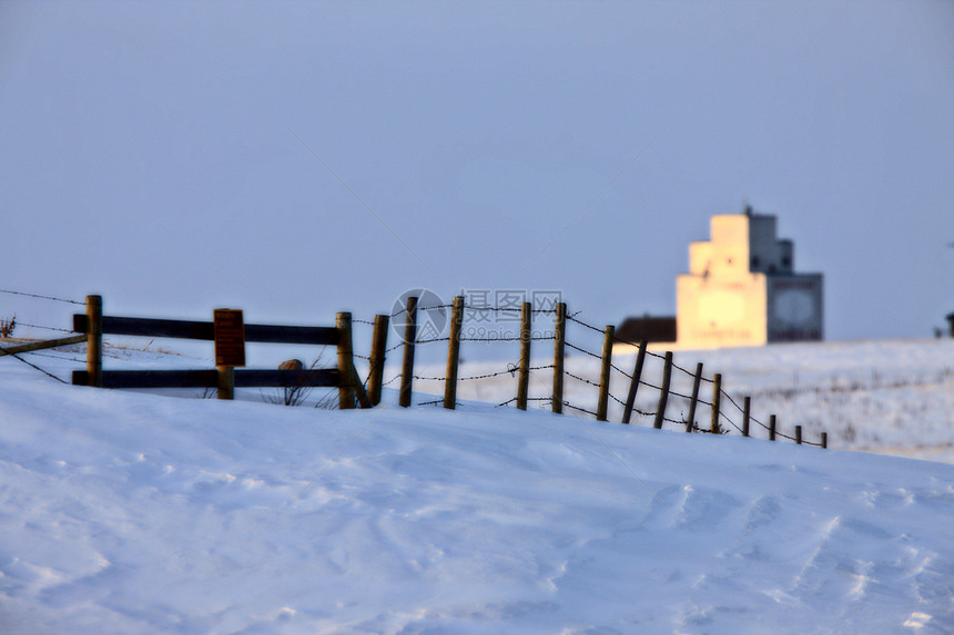
<instances>
[{"instance_id":1,"label":"sunlit blocky grain elevator building with stepped top, blurred in distance","mask_svg":"<svg viewBox=\"0 0 954 635\"><path fill-rule=\"evenodd\" d=\"M794 273L792 242L751 207L712 217L711 239L690 244L676 289L679 348L823 337L822 275Z\"/></svg>"}]
</instances>

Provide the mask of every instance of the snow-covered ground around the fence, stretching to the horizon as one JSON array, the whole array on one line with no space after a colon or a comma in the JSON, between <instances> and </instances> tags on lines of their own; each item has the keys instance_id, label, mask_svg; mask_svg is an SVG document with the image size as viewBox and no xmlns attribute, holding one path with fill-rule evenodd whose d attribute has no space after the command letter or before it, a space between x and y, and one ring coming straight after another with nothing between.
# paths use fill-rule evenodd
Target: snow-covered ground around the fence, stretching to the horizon
<instances>
[{"instance_id":1,"label":"snow-covered ground around the fence, stretching to the horizon","mask_svg":"<svg viewBox=\"0 0 954 635\"><path fill-rule=\"evenodd\" d=\"M24 357L65 378L82 356ZM954 467L845 451L951 460L954 345L677 355L697 360L834 449L493 404L174 399L0 358L0 633L954 632Z\"/></svg>"}]
</instances>

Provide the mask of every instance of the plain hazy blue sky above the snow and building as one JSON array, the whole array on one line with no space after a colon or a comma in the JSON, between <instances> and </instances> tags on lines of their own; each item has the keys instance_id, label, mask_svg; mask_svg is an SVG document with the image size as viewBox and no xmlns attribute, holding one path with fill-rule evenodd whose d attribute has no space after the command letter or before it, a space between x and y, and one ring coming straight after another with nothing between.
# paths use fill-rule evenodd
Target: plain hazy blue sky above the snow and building
<instances>
[{"instance_id":1,"label":"plain hazy blue sky above the snow and building","mask_svg":"<svg viewBox=\"0 0 954 635\"><path fill-rule=\"evenodd\" d=\"M558 289L618 324L674 315L743 199L829 339L931 337L954 3L0 1L3 289L291 324Z\"/></svg>"}]
</instances>

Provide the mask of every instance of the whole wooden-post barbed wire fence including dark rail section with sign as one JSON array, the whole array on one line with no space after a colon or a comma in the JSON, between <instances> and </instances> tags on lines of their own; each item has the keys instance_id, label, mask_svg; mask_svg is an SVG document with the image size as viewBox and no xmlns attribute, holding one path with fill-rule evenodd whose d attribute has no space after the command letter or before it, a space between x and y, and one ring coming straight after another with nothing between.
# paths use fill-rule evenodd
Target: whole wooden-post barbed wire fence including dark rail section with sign
<instances>
[{"instance_id":1,"label":"whole wooden-post barbed wire fence including dark rail section with sign","mask_svg":"<svg viewBox=\"0 0 954 635\"><path fill-rule=\"evenodd\" d=\"M64 300L65 301L65 300ZM80 303L74 303L80 304ZM213 313L212 321L193 321L193 320L170 320L170 319L152 319L152 318L133 318L133 317L114 317L102 315L102 298L100 296L88 296L85 300L85 314L73 316L73 330L77 336L70 336L55 340L28 342L13 347L0 349L2 355L17 355L19 352L29 352L43 348L53 348L57 346L67 346L71 344L87 342L87 369L73 371L72 382L74 385L94 386L102 388L205 388L216 389L220 399L232 399L236 387L331 387L338 389L339 408L355 408L359 404L362 408L372 408L380 402L382 388L400 379L398 389L398 404L407 408L412 404L413 382L415 379L438 380L444 382L443 400L433 401L429 403L443 403L444 408L454 409L457 406L457 385L459 381L484 379L489 377L514 375L517 378L516 397L505 401L500 406L506 406L516 402L516 407L526 410L528 402L531 400L549 401L550 408L555 413L562 413L565 408L585 412L598 421L607 421L609 412L609 400L612 399L622 407L622 423L630 423L632 414L638 412L645 418L652 419L653 428L660 429L664 423L672 423L684 429L686 432L708 432L708 433L724 433L728 422L735 428L742 436L749 437L752 423L761 426L768 432L770 440L778 438L790 439L796 443L806 443L821 448L828 447L828 436L821 432L820 442L804 441L802 438L802 428L794 427L794 434L788 436L779 430L778 420L774 414L770 416L768 422L762 422L752 416L752 403L749 397L742 399L740 406L737 401L722 389L722 376L716 373L711 379L703 376L702 363L697 363L694 372L683 369L673 363L672 352L658 355L647 350L647 342L638 344L638 350L635 360L635 367L631 372L627 372L613 365L612 350L615 344L633 344L626 342L616 337L615 328L607 326L599 329L588 325L574 316L567 314L567 306L564 303L558 303L552 309L534 309L529 303L522 303L519 308L516 307L466 307L463 297L454 298L450 305L440 307L418 308L418 298L410 297L407 299L406 306L393 316L378 315L373 324L374 332L372 336L371 356L363 357L368 361L369 372L367 378L367 388L357 376L354 366L355 354L352 342L352 316L349 313L338 313L336 316L335 326L275 326L275 325L245 325L242 322L241 311L232 311L232 318L237 314L237 325L232 327L240 329L240 335L236 335L233 328L232 332L226 334L225 322L217 321L216 314ZM450 328L447 337L436 337L429 340L418 339L417 317L418 310L425 309L449 309L450 311ZM458 376L458 365L460 358L461 341L500 341L499 338L490 338L480 340L474 337L463 337L461 325L464 322L465 309L478 311L514 311L519 313L520 331L519 337L505 338L519 341L519 361L516 365L508 366L506 371L479 376L460 378ZM222 310L222 309L220 309ZM398 345L387 347L387 332L389 320L397 315L405 314L405 325L403 341ZM534 314L551 314L554 316L552 336L535 337L532 335L532 316ZM515 316L516 317L516 316ZM363 321L363 320L358 320ZM591 329L602 336L602 351L596 354L585 348L575 346L567 341L567 322L576 322L587 329ZM102 368L102 336L103 335L123 335L123 336L142 336L142 337L163 337L176 339L197 339L211 340L216 344L216 368L214 369L190 369L190 370L103 370ZM232 338L232 341L226 341L226 336ZM530 348L531 342L537 339L552 340L554 342L554 361L551 365L537 368L530 367ZM317 346L335 346L337 348L337 366L334 368L321 369L301 369L301 370L282 370L282 369L246 369L236 368L244 366L244 346L246 341L254 342L273 342L273 344L304 344ZM447 342L447 366L443 377L422 378L414 373L415 348L425 344ZM227 346L232 346L232 359L226 355ZM236 348L237 346L237 348ZM222 348L222 350L220 350ZM385 366L385 356L392 350L403 348L403 358L400 363L400 372L397 377L388 382L383 381L383 372ZM565 358L567 349L572 349L592 358L600 362L599 382L590 381L583 377L579 377L568 371L565 367ZM224 352L223 352L224 351ZM236 356L237 355L237 356ZM643 368L647 357L656 357L662 361L662 377L659 386L652 385L643 379ZM238 360L238 361L236 361ZM552 369L552 392L549 398L530 398L529 397L529 380L531 371ZM629 380L629 386L626 395L626 400L621 400L610 392L610 379L612 372L623 375ZM680 395L671 390L671 380L674 372L684 373L692 379L691 395ZM566 378L572 378L592 385L597 389L596 408L590 410L580 404L574 404L567 401L564 397L564 381ZM711 400L706 401L701 397L701 388L703 383L711 385ZM641 387L647 387L658 391L658 403L654 412L643 412L636 409L637 393ZM643 389L645 392L645 389ZM672 419L667 416L667 408L670 397L684 399L688 404L688 416L682 420ZM734 406L741 414L741 424L728 418L723 412L723 397ZM645 401L645 397L643 397ZM711 418L708 427L697 421L697 409L699 406L706 406L710 409Z\"/></svg>"}]
</instances>

